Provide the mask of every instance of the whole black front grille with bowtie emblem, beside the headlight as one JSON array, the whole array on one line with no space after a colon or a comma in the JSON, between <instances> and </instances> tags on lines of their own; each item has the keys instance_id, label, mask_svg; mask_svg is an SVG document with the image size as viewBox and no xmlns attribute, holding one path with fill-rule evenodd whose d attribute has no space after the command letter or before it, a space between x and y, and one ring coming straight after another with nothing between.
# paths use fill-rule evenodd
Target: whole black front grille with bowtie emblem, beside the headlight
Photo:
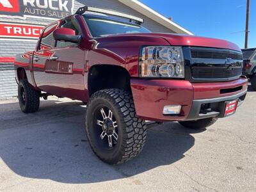
<instances>
[{"instance_id":1,"label":"whole black front grille with bowtie emblem, beside the headlight","mask_svg":"<svg viewBox=\"0 0 256 192\"><path fill-rule=\"evenodd\" d=\"M243 55L239 51L190 47L191 77L202 81L227 81L241 76Z\"/></svg>"}]
</instances>

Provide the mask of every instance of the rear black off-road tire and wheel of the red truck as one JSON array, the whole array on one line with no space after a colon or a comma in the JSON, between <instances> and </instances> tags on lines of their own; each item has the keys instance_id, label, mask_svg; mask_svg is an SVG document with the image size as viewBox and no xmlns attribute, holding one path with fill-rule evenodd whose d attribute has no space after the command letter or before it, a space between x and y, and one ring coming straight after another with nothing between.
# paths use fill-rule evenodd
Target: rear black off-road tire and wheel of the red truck
<instances>
[{"instance_id":1,"label":"rear black off-road tire and wheel of the red truck","mask_svg":"<svg viewBox=\"0 0 256 192\"><path fill-rule=\"evenodd\" d=\"M38 111L40 105L40 93L33 90L27 79L21 79L18 84L18 99L20 109L24 113Z\"/></svg>"}]
</instances>

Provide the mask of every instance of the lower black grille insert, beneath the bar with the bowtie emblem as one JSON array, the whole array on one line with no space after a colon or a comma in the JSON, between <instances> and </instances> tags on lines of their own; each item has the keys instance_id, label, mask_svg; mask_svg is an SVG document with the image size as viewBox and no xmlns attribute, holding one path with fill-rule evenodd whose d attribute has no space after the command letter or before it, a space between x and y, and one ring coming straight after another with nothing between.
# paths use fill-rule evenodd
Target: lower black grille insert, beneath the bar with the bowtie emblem
<instances>
[{"instance_id":1,"label":"lower black grille insert, beneath the bar with the bowtie emblem","mask_svg":"<svg viewBox=\"0 0 256 192\"><path fill-rule=\"evenodd\" d=\"M192 76L194 78L230 78L241 76L241 67L192 67Z\"/></svg>"}]
</instances>

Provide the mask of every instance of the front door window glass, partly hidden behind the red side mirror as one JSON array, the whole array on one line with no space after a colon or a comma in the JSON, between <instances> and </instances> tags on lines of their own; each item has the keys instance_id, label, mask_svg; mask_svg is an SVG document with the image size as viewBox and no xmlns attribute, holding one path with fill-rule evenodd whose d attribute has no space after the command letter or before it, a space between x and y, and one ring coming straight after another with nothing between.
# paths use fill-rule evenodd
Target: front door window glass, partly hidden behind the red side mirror
<instances>
[{"instance_id":1,"label":"front door window glass, partly hidden behind the red side mirror","mask_svg":"<svg viewBox=\"0 0 256 192\"><path fill-rule=\"evenodd\" d=\"M81 29L79 27L79 24L77 24L77 22L74 18L64 20L62 22L60 28L73 29L76 32L76 35L81 35ZM56 42L56 47L67 47L67 46L70 46L70 45L76 45L76 43L63 42L63 41L57 41Z\"/></svg>"}]
</instances>

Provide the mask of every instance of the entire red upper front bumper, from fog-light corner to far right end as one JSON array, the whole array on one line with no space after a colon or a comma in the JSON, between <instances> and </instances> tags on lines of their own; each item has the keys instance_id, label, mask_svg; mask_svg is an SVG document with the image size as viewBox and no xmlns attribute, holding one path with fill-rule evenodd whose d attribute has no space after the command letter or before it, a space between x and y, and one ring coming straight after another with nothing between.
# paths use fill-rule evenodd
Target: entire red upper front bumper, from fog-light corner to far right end
<instances>
[{"instance_id":1,"label":"entire red upper front bumper, from fog-light corner to far right end","mask_svg":"<svg viewBox=\"0 0 256 192\"><path fill-rule=\"evenodd\" d=\"M186 120L196 99L210 99L235 95L247 89L248 80L241 77L222 83L190 83L184 80L131 79L132 96L140 118L154 121ZM220 94L223 88L243 86L238 92ZM180 115L163 115L166 105L181 105Z\"/></svg>"}]
</instances>

